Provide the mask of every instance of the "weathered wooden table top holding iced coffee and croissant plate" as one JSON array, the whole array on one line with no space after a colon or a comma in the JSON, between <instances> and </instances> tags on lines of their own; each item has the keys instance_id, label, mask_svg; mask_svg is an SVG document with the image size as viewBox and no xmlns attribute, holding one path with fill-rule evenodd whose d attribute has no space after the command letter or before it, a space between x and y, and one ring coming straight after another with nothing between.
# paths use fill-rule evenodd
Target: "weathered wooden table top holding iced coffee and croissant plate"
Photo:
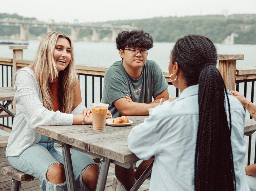
<instances>
[{"instance_id":1,"label":"weathered wooden table top holding iced coffee and croissant plate","mask_svg":"<svg viewBox=\"0 0 256 191\"><path fill-rule=\"evenodd\" d=\"M90 125L39 126L36 132L79 149L90 151L120 163L139 160L129 149L127 137L131 129L142 123L146 116L128 116L129 126L108 126L104 131L94 131Z\"/></svg>"}]
</instances>

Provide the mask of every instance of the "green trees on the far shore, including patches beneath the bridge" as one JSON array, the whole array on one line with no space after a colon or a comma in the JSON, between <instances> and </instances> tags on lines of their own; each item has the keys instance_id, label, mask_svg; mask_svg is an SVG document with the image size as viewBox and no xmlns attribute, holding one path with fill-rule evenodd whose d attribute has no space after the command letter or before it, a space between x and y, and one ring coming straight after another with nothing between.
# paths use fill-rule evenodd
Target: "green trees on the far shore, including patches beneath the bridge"
<instances>
[{"instance_id":1,"label":"green trees on the far shore, including patches beneath the bridge","mask_svg":"<svg viewBox=\"0 0 256 191\"><path fill-rule=\"evenodd\" d=\"M36 18L22 17L17 14L0 13L0 19L16 18L19 20L33 21ZM214 43L222 43L231 33L238 34L236 44L256 44L256 14L243 15L204 15L186 17L154 17L138 20L118 20L92 23L92 25L131 25L143 29L151 34L154 42L176 42L179 38L189 34L207 36ZM70 28L57 28L58 31L70 35ZM18 31L18 32L17 32ZM46 28L31 27L30 36L39 36L46 33ZM19 33L18 26L0 26L0 36L11 36ZM111 31L101 31L100 38L110 38ZM92 30L81 29L79 38L90 39Z\"/></svg>"}]
</instances>

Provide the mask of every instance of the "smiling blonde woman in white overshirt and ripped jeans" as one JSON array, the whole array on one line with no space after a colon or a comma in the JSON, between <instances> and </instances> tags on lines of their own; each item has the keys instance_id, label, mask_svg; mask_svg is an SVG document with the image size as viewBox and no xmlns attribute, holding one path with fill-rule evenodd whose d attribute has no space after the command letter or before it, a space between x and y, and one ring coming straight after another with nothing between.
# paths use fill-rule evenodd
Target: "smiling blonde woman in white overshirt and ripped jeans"
<instances>
[{"instance_id":1,"label":"smiling blonde woman in white overshirt and ripped jeans","mask_svg":"<svg viewBox=\"0 0 256 191\"><path fill-rule=\"evenodd\" d=\"M47 33L33 64L20 69L14 80L16 115L6 157L17 170L38 178L42 190L67 190L62 155L53 139L37 134L35 128L92 123L92 113L82 103L70 38ZM84 153L71 153L76 190L95 190L98 165Z\"/></svg>"}]
</instances>

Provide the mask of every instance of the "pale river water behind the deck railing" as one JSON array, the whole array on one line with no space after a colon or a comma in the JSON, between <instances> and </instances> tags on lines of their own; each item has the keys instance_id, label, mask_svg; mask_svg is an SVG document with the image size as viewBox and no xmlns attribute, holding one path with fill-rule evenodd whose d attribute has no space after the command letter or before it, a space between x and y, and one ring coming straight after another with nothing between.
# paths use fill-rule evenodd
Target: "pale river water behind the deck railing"
<instances>
[{"instance_id":1,"label":"pale river water behind the deck railing","mask_svg":"<svg viewBox=\"0 0 256 191\"><path fill-rule=\"evenodd\" d=\"M36 49L39 41L29 41L28 49L23 51L23 58L25 60L34 60ZM169 56L174 46L174 43L154 43L154 47L148 52L148 59L156 61L163 71L168 71ZM244 60L237 60L236 66L256 66L256 45L225 45L215 44L218 54L244 54ZM89 66L103 66L109 67L117 60L121 60L119 51L117 50L114 42L74 42L74 55L76 65L89 65ZM9 45L0 45L0 57L12 58L12 50L9 50ZM1 72L1 71L0 71ZM0 73L0 77L1 77ZM89 79L90 81L90 79ZM90 83L89 83L89 86ZM90 88L90 87L89 87ZM81 91L84 92L84 86L81 86ZM170 97L175 97L175 88L170 86L168 88ZM240 91L243 93L243 84L240 85ZM247 95L251 94L250 84L248 83ZM255 94L256 95L256 92ZM96 98L97 97L97 98ZM95 102L99 101L96 95ZM84 95L82 95L84 100ZM250 98L250 97L249 97ZM256 100L256 99L254 99ZM91 98L88 98L88 103L91 103ZM249 113L246 114L249 118ZM1 133L1 132L0 132ZM254 133L255 134L255 133ZM254 159L255 150L255 135L252 138L252 156L251 163ZM248 137L245 136L248 142ZM247 144L248 145L248 144ZM247 162L245 161L245 166Z\"/></svg>"}]
</instances>

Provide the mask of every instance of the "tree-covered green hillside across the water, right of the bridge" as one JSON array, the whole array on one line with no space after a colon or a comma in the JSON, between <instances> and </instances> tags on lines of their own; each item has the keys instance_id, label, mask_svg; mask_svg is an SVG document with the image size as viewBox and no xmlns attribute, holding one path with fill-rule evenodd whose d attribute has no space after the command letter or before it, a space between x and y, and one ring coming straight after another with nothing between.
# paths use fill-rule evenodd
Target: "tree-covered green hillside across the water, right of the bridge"
<instances>
[{"instance_id":1,"label":"tree-covered green hillside across the water, right of the bridge","mask_svg":"<svg viewBox=\"0 0 256 191\"><path fill-rule=\"evenodd\" d=\"M155 42L176 42L189 34L203 35L222 43L231 33L237 44L256 44L256 15L205 15L187 17L154 17L150 19L108 21L115 25L132 25L151 34Z\"/></svg>"}]
</instances>

